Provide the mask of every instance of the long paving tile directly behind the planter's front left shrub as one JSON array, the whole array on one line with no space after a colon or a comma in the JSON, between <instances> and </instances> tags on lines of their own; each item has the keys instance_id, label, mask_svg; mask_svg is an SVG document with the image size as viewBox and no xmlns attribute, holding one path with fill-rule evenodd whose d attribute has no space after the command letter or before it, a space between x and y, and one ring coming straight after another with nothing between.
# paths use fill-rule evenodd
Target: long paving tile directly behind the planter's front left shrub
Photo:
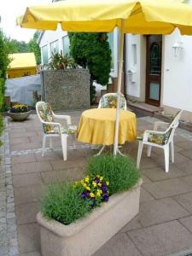
<instances>
[{"instance_id":1,"label":"long paving tile directly behind the planter's front left shrub","mask_svg":"<svg viewBox=\"0 0 192 256\"><path fill-rule=\"evenodd\" d=\"M84 177L82 168L68 168L51 172L41 172L44 183L73 182Z\"/></svg>"}]
</instances>

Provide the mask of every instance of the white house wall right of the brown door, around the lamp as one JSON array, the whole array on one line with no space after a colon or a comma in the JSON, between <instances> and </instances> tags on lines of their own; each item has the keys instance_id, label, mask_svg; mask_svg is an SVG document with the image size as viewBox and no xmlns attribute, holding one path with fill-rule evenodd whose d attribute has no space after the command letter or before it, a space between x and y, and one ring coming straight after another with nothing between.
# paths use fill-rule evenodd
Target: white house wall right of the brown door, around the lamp
<instances>
[{"instance_id":1,"label":"white house wall right of the brown door, around the lamp","mask_svg":"<svg viewBox=\"0 0 192 256\"><path fill-rule=\"evenodd\" d=\"M183 42L180 55L174 56L176 42ZM192 111L192 37L181 36L178 30L164 38L164 67L161 105Z\"/></svg>"}]
</instances>

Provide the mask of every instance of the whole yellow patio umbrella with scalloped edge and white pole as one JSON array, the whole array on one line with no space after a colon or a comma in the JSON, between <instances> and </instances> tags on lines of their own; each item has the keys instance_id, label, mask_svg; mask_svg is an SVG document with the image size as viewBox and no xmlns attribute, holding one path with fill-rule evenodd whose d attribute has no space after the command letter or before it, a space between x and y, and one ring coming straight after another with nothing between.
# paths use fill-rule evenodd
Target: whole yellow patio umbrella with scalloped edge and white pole
<instances>
[{"instance_id":1,"label":"whole yellow patio umbrella with scalloped edge and white pole","mask_svg":"<svg viewBox=\"0 0 192 256\"><path fill-rule=\"evenodd\" d=\"M66 0L33 6L17 19L26 28L55 30L58 24L69 32L112 32L119 27L118 100L113 154L118 153L119 95L121 88L123 36L170 34L177 27L192 35L192 5L182 0Z\"/></svg>"}]
</instances>

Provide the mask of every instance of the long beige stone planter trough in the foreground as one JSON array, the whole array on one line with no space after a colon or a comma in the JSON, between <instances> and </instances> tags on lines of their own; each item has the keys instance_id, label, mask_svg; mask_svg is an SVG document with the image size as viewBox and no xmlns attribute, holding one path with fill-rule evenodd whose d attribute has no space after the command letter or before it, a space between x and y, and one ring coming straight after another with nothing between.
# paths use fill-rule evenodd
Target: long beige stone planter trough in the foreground
<instances>
[{"instance_id":1,"label":"long beige stone planter trough in the foreground","mask_svg":"<svg viewBox=\"0 0 192 256\"><path fill-rule=\"evenodd\" d=\"M106 205L96 208L73 224L64 225L38 212L43 256L88 256L95 253L139 211L142 180L129 191L112 195Z\"/></svg>"}]
</instances>

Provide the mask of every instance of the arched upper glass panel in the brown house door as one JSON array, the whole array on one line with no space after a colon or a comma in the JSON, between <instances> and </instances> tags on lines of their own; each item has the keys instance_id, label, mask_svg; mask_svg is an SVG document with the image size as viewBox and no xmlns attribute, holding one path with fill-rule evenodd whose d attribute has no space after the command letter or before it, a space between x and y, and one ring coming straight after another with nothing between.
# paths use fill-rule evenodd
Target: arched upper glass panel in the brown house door
<instances>
[{"instance_id":1,"label":"arched upper glass panel in the brown house door","mask_svg":"<svg viewBox=\"0 0 192 256\"><path fill-rule=\"evenodd\" d=\"M160 74L160 62L160 46L154 42L150 47L150 74Z\"/></svg>"}]
</instances>

